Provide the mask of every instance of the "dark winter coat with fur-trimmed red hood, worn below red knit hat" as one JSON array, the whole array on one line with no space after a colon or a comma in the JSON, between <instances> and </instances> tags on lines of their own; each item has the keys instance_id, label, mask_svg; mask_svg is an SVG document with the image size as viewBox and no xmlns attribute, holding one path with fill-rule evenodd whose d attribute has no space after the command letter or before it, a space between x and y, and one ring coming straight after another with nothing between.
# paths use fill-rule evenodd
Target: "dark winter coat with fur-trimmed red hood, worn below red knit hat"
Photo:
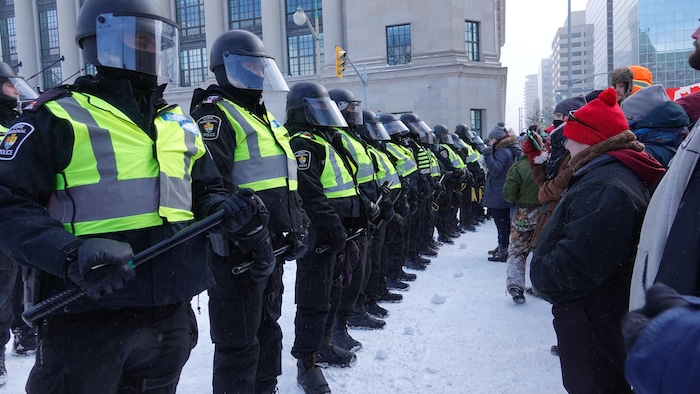
<instances>
[{"instance_id":1,"label":"dark winter coat with fur-trimmed red hood, worn below red knit hat","mask_svg":"<svg viewBox=\"0 0 700 394\"><path fill-rule=\"evenodd\" d=\"M574 175L540 235L530 270L545 300L560 304L629 287L649 187L663 174L642 149L625 131L569 162ZM627 291L613 293L626 297Z\"/></svg>"}]
</instances>

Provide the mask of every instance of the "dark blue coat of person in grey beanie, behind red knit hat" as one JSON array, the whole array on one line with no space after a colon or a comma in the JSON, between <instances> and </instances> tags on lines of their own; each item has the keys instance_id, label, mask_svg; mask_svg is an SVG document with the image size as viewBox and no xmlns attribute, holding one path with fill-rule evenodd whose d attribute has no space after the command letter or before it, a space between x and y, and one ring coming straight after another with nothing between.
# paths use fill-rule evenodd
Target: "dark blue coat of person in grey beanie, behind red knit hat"
<instances>
[{"instance_id":1,"label":"dark blue coat of person in grey beanie, behind red knit hat","mask_svg":"<svg viewBox=\"0 0 700 394\"><path fill-rule=\"evenodd\" d=\"M688 124L690 118L683 107L666 101L632 125L631 130L644 144L644 150L668 168L676 148L688 134Z\"/></svg>"}]
</instances>

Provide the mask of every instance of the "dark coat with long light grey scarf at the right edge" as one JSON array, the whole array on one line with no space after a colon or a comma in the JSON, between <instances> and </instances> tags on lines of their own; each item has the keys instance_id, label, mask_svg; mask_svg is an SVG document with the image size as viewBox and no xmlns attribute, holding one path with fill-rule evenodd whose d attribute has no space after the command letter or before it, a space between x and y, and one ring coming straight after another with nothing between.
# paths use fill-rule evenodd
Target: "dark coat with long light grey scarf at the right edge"
<instances>
[{"instance_id":1,"label":"dark coat with long light grey scarf at the right edge","mask_svg":"<svg viewBox=\"0 0 700 394\"><path fill-rule=\"evenodd\" d=\"M697 279L700 233L695 231L698 226L695 218L700 212L700 182L696 175L700 158L699 131L700 124L696 123L649 203L634 263L631 309L644 305L646 290L660 281L658 273L663 276L664 283L679 293L700 294Z\"/></svg>"}]
</instances>

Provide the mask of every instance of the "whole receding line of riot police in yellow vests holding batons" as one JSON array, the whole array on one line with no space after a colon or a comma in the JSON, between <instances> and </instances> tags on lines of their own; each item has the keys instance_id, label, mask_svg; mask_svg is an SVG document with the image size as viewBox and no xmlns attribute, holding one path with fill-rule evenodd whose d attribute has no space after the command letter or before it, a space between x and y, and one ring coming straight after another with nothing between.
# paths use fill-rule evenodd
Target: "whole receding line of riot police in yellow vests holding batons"
<instances>
[{"instance_id":1,"label":"whole receding line of riot police in yellow vests holding batons","mask_svg":"<svg viewBox=\"0 0 700 394\"><path fill-rule=\"evenodd\" d=\"M195 90L192 122L162 97L178 33L155 3L87 0L77 30L97 75L42 94L0 151L0 247L33 272L30 298L89 296L40 322L29 393L175 392L204 289L213 391L275 392L285 260L297 380L328 393L319 366L351 366L362 346L347 328L382 328L377 303L416 278L403 268L483 220L478 151L445 126L377 117L316 82L289 89L280 124L262 93L287 85L248 31L212 45L217 84ZM207 237L133 270L135 253L218 211Z\"/></svg>"}]
</instances>

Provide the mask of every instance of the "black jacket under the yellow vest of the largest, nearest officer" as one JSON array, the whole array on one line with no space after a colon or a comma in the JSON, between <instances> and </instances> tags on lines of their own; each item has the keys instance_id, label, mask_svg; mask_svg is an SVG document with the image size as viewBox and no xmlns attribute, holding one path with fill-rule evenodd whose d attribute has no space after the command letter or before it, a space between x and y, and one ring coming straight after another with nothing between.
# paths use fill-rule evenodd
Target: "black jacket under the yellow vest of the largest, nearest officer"
<instances>
[{"instance_id":1,"label":"black jacket under the yellow vest of the largest, nearest officer","mask_svg":"<svg viewBox=\"0 0 700 394\"><path fill-rule=\"evenodd\" d=\"M19 264L45 272L44 297L73 284L64 279L66 258L81 241L49 217L45 207L55 189L57 174L71 160L74 143L70 123L55 117L43 102L70 94L70 89L90 93L112 103L153 136L153 120L166 106L165 86L137 100L126 80L81 77L72 87L45 92L24 111L15 127L33 129L16 149L14 158L0 157L0 248ZM12 130L12 129L11 129ZM10 130L9 133L12 131ZM196 218L214 212L227 196L219 172L209 155L197 160L192 170L193 211ZM99 204L100 202L95 202ZM119 233L96 234L131 244L134 253L169 238L188 223ZM191 299L213 284L207 267L207 239L195 237L139 266L136 279L124 289L93 301L83 297L70 304L70 312L99 307L167 305Z\"/></svg>"}]
</instances>

